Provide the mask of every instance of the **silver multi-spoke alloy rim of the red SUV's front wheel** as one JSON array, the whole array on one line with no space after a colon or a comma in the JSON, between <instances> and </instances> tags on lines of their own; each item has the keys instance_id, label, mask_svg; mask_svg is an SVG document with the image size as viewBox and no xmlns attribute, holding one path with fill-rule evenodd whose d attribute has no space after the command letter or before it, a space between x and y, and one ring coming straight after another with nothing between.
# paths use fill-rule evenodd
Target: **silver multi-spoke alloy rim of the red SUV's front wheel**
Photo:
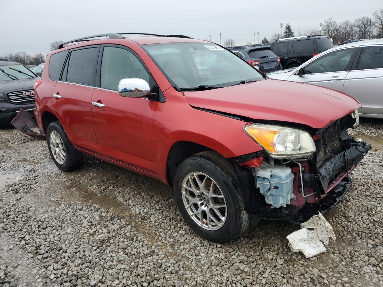
<instances>
[{"instance_id":1,"label":"silver multi-spoke alloy rim of the red SUV's front wheel","mask_svg":"<svg viewBox=\"0 0 383 287\"><path fill-rule=\"evenodd\" d=\"M217 230L227 218L226 201L208 175L189 173L182 182L182 201L190 217L202 228Z\"/></svg>"}]
</instances>

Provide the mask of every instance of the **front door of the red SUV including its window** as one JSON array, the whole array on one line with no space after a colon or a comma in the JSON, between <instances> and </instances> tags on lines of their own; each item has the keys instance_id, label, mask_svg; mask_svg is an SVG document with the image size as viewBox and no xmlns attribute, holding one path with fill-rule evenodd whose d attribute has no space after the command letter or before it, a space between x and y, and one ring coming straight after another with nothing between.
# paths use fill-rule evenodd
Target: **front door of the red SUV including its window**
<instances>
[{"instance_id":1,"label":"front door of the red SUV including its window","mask_svg":"<svg viewBox=\"0 0 383 287\"><path fill-rule=\"evenodd\" d=\"M101 46L99 76L92 102L93 122L101 155L159 175L159 102L118 94L123 78L141 78L157 85L141 59L129 48Z\"/></svg>"}]
</instances>

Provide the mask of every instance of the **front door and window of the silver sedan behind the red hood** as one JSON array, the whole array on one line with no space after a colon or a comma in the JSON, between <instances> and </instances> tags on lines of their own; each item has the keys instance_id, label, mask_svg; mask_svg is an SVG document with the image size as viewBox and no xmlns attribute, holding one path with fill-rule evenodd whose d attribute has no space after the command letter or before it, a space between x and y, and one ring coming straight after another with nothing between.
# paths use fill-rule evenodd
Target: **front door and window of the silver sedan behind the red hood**
<instances>
[{"instance_id":1,"label":"front door and window of the silver sedan behind the red hood","mask_svg":"<svg viewBox=\"0 0 383 287\"><path fill-rule=\"evenodd\" d=\"M303 75L291 75L288 81L308 83L343 91L358 47L341 49L322 55L304 66Z\"/></svg>"}]
</instances>

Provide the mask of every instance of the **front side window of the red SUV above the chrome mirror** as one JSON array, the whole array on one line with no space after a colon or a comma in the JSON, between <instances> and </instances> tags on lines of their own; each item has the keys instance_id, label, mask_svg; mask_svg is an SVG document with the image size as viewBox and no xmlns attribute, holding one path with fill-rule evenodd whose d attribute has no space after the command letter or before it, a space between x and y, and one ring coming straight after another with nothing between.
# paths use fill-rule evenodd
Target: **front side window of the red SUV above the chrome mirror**
<instances>
[{"instance_id":1,"label":"front side window of the red SUV above the chrome mirror","mask_svg":"<svg viewBox=\"0 0 383 287\"><path fill-rule=\"evenodd\" d=\"M141 62L128 50L105 47L101 62L101 88L117 91L123 78L141 78L149 83L149 74Z\"/></svg>"}]
</instances>

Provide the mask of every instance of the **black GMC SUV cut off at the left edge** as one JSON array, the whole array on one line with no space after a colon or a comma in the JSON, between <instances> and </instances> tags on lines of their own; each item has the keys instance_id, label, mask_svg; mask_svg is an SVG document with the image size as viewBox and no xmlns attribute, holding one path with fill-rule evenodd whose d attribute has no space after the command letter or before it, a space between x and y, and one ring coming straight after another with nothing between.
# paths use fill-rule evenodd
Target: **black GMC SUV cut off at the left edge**
<instances>
[{"instance_id":1,"label":"black GMC SUV cut off at the left edge","mask_svg":"<svg viewBox=\"0 0 383 287\"><path fill-rule=\"evenodd\" d=\"M21 107L33 116L33 86L37 78L18 62L0 60L0 126L10 125Z\"/></svg>"}]
</instances>

